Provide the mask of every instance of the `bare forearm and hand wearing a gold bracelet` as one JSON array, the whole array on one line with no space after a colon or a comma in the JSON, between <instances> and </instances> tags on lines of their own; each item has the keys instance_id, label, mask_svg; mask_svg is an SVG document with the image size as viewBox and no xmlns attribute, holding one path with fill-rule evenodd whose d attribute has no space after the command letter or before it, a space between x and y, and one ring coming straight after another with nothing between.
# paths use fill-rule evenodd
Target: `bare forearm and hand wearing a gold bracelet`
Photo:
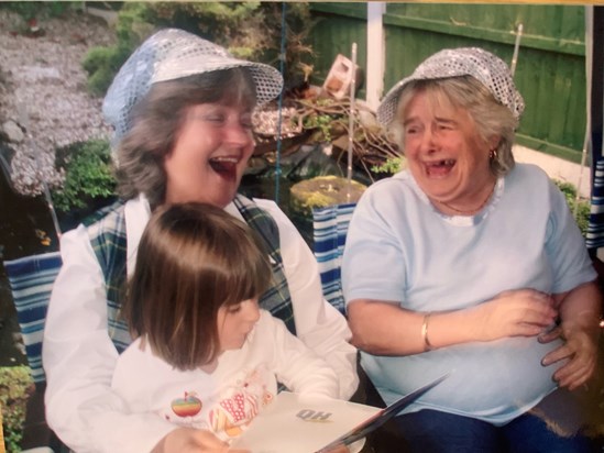
<instances>
[{"instance_id":1,"label":"bare forearm and hand wearing a gold bracelet","mask_svg":"<svg viewBox=\"0 0 604 453\"><path fill-rule=\"evenodd\" d=\"M352 342L376 355L411 355L431 347L535 336L552 324L549 296L531 289L505 291L463 310L428 313L405 310L397 301L355 299L348 305ZM425 321L427 321L426 325Z\"/></svg>"}]
</instances>

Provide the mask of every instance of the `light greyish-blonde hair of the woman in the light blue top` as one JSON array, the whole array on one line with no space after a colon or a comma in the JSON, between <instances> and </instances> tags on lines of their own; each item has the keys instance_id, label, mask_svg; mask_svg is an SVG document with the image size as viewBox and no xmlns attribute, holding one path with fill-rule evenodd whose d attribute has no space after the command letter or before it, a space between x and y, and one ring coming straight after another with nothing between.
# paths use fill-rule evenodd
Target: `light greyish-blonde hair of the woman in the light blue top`
<instances>
[{"instance_id":1,"label":"light greyish-blonde hair of the woman in the light blue top","mask_svg":"<svg viewBox=\"0 0 604 453\"><path fill-rule=\"evenodd\" d=\"M439 102L439 97L444 96L453 106L465 110L474 121L477 133L486 143L493 136L499 137L496 152L491 158L491 172L495 176L504 176L514 168L512 145L518 121L507 107L497 102L488 88L470 76L414 80L405 87L393 122L393 131L403 152L405 151L403 115L409 101L418 92L427 92L433 102Z\"/></svg>"}]
</instances>

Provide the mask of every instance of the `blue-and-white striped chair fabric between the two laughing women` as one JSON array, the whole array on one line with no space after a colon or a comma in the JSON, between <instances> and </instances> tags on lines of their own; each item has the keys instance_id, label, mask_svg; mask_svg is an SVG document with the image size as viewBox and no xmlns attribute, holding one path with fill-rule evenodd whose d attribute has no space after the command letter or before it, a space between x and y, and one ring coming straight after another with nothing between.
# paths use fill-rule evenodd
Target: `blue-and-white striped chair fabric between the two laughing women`
<instances>
[{"instance_id":1,"label":"blue-and-white striped chair fabric between the two laughing women","mask_svg":"<svg viewBox=\"0 0 604 453\"><path fill-rule=\"evenodd\" d=\"M348 224L356 203L334 205L312 209L315 257L319 264L325 298L342 314L345 313L340 267Z\"/></svg>"}]
</instances>

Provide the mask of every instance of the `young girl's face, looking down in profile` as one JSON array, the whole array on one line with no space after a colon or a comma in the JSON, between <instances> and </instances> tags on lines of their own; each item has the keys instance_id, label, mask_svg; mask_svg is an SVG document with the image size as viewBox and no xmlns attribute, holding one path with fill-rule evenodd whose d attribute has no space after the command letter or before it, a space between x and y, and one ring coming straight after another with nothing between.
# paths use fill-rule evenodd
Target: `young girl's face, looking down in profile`
<instances>
[{"instance_id":1,"label":"young girl's face, looking down in profile","mask_svg":"<svg viewBox=\"0 0 604 453\"><path fill-rule=\"evenodd\" d=\"M239 350L260 319L256 299L248 299L218 309L218 339L220 351Z\"/></svg>"}]
</instances>

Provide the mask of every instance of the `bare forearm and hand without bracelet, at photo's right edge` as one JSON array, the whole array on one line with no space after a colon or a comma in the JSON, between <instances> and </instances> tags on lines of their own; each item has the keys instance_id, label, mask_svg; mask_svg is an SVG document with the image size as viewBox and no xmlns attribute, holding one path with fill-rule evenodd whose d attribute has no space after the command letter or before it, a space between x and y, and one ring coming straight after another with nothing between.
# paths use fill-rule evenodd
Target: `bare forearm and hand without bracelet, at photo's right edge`
<instances>
[{"instance_id":1,"label":"bare forearm and hand without bracelet, at photo's right edge","mask_svg":"<svg viewBox=\"0 0 604 453\"><path fill-rule=\"evenodd\" d=\"M597 341L602 316L602 295L595 283L554 295L560 307L560 325L539 338L542 342L559 336L564 344L543 357L543 365L568 361L554 374L553 379L570 390L585 384L597 364Z\"/></svg>"}]
</instances>

